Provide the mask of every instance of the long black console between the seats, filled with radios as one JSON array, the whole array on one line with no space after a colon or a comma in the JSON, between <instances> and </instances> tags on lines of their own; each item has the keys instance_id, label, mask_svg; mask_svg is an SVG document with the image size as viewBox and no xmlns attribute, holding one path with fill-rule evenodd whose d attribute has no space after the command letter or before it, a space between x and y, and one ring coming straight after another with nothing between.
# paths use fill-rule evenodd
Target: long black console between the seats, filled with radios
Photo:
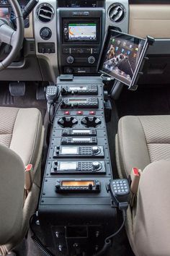
<instances>
[{"instance_id":1,"label":"long black console between the seats, filled with radios","mask_svg":"<svg viewBox=\"0 0 170 256\"><path fill-rule=\"evenodd\" d=\"M94 255L117 229L106 185L112 169L100 77L57 81L60 97L38 209L56 255Z\"/></svg>"}]
</instances>

